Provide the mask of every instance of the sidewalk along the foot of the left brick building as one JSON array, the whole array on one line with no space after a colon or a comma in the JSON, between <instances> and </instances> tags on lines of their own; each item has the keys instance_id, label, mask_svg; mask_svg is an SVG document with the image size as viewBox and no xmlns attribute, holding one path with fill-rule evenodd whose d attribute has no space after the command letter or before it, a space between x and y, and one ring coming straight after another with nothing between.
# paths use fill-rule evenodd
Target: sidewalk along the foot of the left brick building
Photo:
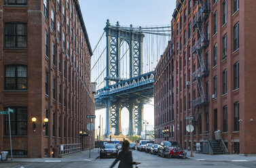
<instances>
[{"instance_id":1,"label":"sidewalk along the foot of the left brick building","mask_svg":"<svg viewBox=\"0 0 256 168\"><path fill-rule=\"evenodd\" d=\"M11 161L10 157L8 161L5 162L82 162L82 161L94 161L97 157L100 156L98 153L98 148L94 148L91 150L91 156L89 158L89 150L83 150L80 152L75 152L73 154L67 154L62 156L62 158L22 158L16 159L14 158Z\"/></svg>"}]
</instances>

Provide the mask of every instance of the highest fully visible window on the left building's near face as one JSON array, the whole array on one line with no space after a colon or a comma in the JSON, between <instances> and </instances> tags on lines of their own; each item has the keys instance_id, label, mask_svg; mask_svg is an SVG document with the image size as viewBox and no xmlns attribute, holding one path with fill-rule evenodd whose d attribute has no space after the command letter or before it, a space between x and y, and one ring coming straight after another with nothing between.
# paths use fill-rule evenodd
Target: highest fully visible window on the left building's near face
<instances>
[{"instance_id":1,"label":"highest fully visible window on the left building's near face","mask_svg":"<svg viewBox=\"0 0 256 168\"><path fill-rule=\"evenodd\" d=\"M26 47L26 42L26 24L5 23L5 47Z\"/></svg>"}]
</instances>

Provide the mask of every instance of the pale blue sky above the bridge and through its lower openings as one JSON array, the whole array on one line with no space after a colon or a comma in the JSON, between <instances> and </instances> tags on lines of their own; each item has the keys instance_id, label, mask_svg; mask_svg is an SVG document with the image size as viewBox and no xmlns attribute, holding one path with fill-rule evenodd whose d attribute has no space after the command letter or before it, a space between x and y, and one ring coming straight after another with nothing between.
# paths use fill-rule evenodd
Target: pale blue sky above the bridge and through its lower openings
<instances>
[{"instance_id":1,"label":"pale blue sky above the bridge and through its lower openings","mask_svg":"<svg viewBox=\"0 0 256 168\"><path fill-rule=\"evenodd\" d=\"M111 24L120 22L121 26L156 26L170 24L176 0L79 0L81 12L86 24L92 49L98 43L106 26L107 19ZM166 43L167 46L167 43ZM153 130L153 99L144 105L144 119L149 123L147 129ZM95 126L99 125L100 116L103 117L105 129L105 110L96 113ZM128 127L128 110L121 112L122 127ZM104 132L103 132L104 133Z\"/></svg>"}]
</instances>

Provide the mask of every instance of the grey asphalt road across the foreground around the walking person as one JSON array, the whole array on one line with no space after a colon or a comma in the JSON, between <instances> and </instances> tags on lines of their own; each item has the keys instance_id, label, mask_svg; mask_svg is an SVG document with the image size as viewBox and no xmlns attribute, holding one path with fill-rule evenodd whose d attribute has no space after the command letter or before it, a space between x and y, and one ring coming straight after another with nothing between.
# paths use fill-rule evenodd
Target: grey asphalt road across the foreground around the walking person
<instances>
[{"instance_id":1,"label":"grey asphalt road across the foreground around the walking person","mask_svg":"<svg viewBox=\"0 0 256 168\"><path fill-rule=\"evenodd\" d=\"M198 167L225 167L225 168L236 168L236 167L250 167L255 168L256 162L211 162L211 161L192 161L190 159L167 159L162 158L157 155L147 154L145 152L139 151L132 151L132 156L134 161L141 162L139 168L142 167L157 167L157 168L165 168L165 167L191 167L191 168L198 168ZM113 163L115 159L96 159L95 161L84 161L84 162L60 162L60 163L0 163L0 168L18 168L20 166L24 168L66 168L66 167L74 167L74 168L81 168L81 167L88 167L88 168L104 168L110 167L111 163ZM115 167L118 167L115 165Z\"/></svg>"}]
</instances>

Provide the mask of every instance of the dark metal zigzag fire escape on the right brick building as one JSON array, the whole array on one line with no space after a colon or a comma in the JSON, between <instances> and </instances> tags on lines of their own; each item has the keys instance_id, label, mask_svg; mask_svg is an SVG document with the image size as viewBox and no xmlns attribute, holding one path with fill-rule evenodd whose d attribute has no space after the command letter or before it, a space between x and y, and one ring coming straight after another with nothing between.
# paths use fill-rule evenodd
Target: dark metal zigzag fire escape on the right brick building
<instances>
[{"instance_id":1,"label":"dark metal zigzag fire escape on the right brick building","mask_svg":"<svg viewBox=\"0 0 256 168\"><path fill-rule=\"evenodd\" d=\"M204 84L202 83L202 78L208 75L208 69L206 68L206 64L204 62L202 49L204 47L207 47L209 43L209 35L206 34L204 30L204 22L210 14L210 6L204 3L204 0L194 1L198 1L198 5L200 5L200 8L195 14L195 18L193 20L193 27L198 29L200 38L198 39L198 41L196 41L192 48L192 53L198 56L198 61L200 63L200 67L192 74L192 79L196 80L198 83L198 91L200 93L199 98L192 100L192 108L194 108L193 123L194 125L196 125L196 123L198 122L198 117L201 114L202 106L208 104L208 98L206 98L206 95L204 93Z\"/></svg>"}]
</instances>

